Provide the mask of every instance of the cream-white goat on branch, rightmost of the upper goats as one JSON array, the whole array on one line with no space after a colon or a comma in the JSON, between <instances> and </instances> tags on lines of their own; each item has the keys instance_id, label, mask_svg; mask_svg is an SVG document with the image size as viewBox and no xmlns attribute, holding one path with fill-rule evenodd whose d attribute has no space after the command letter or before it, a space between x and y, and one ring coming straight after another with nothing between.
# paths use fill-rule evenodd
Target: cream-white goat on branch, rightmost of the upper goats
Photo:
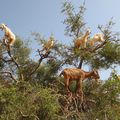
<instances>
[{"instance_id":1,"label":"cream-white goat on branch, rightmost of the upper goats","mask_svg":"<svg viewBox=\"0 0 120 120\"><path fill-rule=\"evenodd\" d=\"M97 42L104 42L104 41L105 41L105 39L104 39L103 34L97 33L97 34L95 34L93 36L93 38L91 40L88 41L88 45L90 47L93 47L95 45L95 43L97 43Z\"/></svg>"}]
</instances>

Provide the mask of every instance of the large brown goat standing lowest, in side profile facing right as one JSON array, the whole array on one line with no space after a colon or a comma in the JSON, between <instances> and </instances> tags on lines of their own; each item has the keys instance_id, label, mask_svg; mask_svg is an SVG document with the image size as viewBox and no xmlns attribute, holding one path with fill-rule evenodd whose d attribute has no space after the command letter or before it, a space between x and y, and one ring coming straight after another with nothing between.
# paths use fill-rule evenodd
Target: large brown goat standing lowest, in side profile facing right
<instances>
[{"instance_id":1,"label":"large brown goat standing lowest, in side profile facing right","mask_svg":"<svg viewBox=\"0 0 120 120\"><path fill-rule=\"evenodd\" d=\"M82 69L77 68L66 68L61 73L60 76L63 75L65 79L65 89L68 93L70 92L69 85L71 81L77 82L77 91L76 92L82 92L82 81L86 78L92 77L93 79L99 79L98 71L93 70L91 72L86 72ZM82 93L80 93L82 94Z\"/></svg>"}]
</instances>

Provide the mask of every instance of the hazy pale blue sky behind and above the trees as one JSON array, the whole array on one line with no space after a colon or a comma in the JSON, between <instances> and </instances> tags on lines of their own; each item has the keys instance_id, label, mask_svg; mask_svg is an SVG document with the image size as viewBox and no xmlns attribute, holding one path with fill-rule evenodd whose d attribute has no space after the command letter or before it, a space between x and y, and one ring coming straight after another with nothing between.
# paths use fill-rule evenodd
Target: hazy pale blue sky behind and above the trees
<instances>
[{"instance_id":1,"label":"hazy pale blue sky behind and above the trees","mask_svg":"<svg viewBox=\"0 0 120 120\"><path fill-rule=\"evenodd\" d=\"M83 0L71 1L76 8L83 3ZM46 38L53 33L57 40L69 44L72 41L64 36L62 2L64 0L1 0L0 23L7 24L15 34L25 39L31 32L39 32ZM98 32L98 24L106 24L111 17L116 22L113 30L120 31L120 0L86 0L86 8L85 22L92 34ZM102 73L104 79L108 73Z\"/></svg>"}]
</instances>

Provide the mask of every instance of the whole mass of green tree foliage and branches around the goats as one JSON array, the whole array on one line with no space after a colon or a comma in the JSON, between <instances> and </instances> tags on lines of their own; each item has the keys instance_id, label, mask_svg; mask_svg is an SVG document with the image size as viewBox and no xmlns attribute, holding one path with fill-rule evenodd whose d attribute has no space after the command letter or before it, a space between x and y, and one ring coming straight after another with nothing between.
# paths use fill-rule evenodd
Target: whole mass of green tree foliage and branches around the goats
<instances>
[{"instance_id":1,"label":"whole mass of green tree foliage and branches around the goats","mask_svg":"<svg viewBox=\"0 0 120 120\"><path fill-rule=\"evenodd\" d=\"M1 120L119 120L120 79L116 72L106 81L93 79L83 82L83 103L76 98L76 82L66 95L61 69L67 67L109 69L120 65L119 33L112 31L112 19L106 25L98 25L105 41L86 49L76 49L74 40L89 28L85 24L85 3L78 11L71 2L64 2L65 35L73 40L64 45L55 38L54 47L41 51L48 39L33 33L39 44L33 59L29 42L17 37L10 53L3 45L0 48L0 119Z\"/></svg>"}]
</instances>

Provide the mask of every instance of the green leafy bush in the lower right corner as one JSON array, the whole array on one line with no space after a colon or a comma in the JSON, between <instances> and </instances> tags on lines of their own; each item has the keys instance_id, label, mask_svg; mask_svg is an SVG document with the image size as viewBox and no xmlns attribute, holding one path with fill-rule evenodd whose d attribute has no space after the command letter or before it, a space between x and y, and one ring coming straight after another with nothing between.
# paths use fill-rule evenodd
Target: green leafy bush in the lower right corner
<instances>
[{"instance_id":1,"label":"green leafy bush in the lower right corner","mask_svg":"<svg viewBox=\"0 0 120 120\"><path fill-rule=\"evenodd\" d=\"M89 120L109 119L119 120L120 118L120 82L115 73L99 85L88 82L85 85L85 95L95 100L95 106L89 111Z\"/></svg>"}]
</instances>

